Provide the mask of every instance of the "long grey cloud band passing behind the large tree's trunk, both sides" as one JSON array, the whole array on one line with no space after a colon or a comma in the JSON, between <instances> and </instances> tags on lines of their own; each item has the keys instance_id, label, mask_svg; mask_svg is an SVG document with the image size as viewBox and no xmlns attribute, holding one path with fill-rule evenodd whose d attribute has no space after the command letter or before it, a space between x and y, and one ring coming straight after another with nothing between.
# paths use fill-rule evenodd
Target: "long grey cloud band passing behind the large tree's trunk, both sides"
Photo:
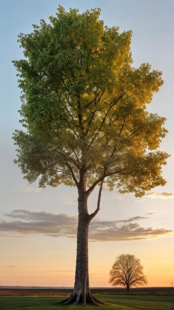
<instances>
[{"instance_id":1,"label":"long grey cloud band passing behind the large tree's trunk, both sides","mask_svg":"<svg viewBox=\"0 0 174 310\"><path fill-rule=\"evenodd\" d=\"M24 237L26 235L44 235L50 237L68 237L76 240L78 218L68 214L36 212L26 209L13 210L5 214L10 221L0 220L0 235ZM89 240L131 241L166 236L173 233L165 228L142 227L137 221L146 219L134 216L123 220L93 219L89 227Z\"/></svg>"}]
</instances>

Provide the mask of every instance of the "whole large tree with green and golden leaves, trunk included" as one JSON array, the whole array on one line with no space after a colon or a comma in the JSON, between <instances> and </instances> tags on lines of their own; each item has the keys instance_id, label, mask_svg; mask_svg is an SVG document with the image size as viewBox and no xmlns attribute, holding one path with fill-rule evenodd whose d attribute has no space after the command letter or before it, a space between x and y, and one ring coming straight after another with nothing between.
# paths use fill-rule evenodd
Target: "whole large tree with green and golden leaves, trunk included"
<instances>
[{"instance_id":1,"label":"whole large tree with green and golden leaves, trunk included","mask_svg":"<svg viewBox=\"0 0 174 310\"><path fill-rule=\"evenodd\" d=\"M74 290L64 304L96 304L89 290L88 225L100 208L103 183L136 197L166 181L168 155L154 152L165 137L164 117L149 113L162 73L132 66L131 31L119 33L99 19L100 9L80 14L59 6L19 35L25 59L13 61L19 76L24 131L13 136L29 183L76 186L79 223ZM99 186L96 209L87 199ZM109 212L109 210L108 210Z\"/></svg>"}]
</instances>

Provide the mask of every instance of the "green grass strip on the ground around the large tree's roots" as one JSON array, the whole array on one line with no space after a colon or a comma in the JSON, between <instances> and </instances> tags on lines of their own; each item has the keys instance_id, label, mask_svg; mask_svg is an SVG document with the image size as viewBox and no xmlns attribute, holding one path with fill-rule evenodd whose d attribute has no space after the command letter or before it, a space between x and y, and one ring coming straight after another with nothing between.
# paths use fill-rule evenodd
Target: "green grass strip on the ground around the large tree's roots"
<instances>
[{"instance_id":1,"label":"green grass strip on the ground around the large tree's roots","mask_svg":"<svg viewBox=\"0 0 174 310\"><path fill-rule=\"evenodd\" d=\"M108 303L87 306L88 310L174 310L174 296L95 295ZM84 310L82 306L54 306L65 299L59 297L0 297L1 310Z\"/></svg>"}]
</instances>

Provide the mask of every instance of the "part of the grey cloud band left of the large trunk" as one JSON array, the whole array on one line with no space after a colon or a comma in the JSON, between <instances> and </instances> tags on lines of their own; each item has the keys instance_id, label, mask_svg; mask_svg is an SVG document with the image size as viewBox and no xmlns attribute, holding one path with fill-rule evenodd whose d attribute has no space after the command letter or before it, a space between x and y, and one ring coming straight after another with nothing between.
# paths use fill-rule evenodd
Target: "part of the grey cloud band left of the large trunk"
<instances>
[{"instance_id":1,"label":"part of the grey cloud band left of the large trunk","mask_svg":"<svg viewBox=\"0 0 174 310\"><path fill-rule=\"evenodd\" d=\"M52 237L76 236L77 217L68 214L35 212L25 209L13 210L5 214L11 221L0 220L0 233L17 235L41 234ZM17 220L14 220L17 219Z\"/></svg>"}]
</instances>

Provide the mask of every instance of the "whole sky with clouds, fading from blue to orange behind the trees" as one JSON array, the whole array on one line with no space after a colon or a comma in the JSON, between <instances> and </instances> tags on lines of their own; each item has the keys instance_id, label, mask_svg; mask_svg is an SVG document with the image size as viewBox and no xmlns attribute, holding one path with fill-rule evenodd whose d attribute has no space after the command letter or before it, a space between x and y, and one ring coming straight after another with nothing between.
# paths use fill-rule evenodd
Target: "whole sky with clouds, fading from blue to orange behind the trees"
<instances>
[{"instance_id":1,"label":"whole sky with clouds, fading from blue to orange behind the trees","mask_svg":"<svg viewBox=\"0 0 174 310\"><path fill-rule=\"evenodd\" d=\"M20 90L11 60L23 58L17 35L48 21L61 4L100 7L100 18L120 32L131 29L133 66L148 62L163 72L164 85L148 111L167 118L160 150L171 155L167 180L142 198L104 188L100 211L89 227L90 286L110 286L117 256L140 258L148 286L174 282L174 1L173 0L0 0L0 285L73 286L76 260L77 190L28 185L13 163L11 139L18 122ZM89 212L96 206L96 191ZM103 234L103 229L105 234Z\"/></svg>"}]
</instances>

